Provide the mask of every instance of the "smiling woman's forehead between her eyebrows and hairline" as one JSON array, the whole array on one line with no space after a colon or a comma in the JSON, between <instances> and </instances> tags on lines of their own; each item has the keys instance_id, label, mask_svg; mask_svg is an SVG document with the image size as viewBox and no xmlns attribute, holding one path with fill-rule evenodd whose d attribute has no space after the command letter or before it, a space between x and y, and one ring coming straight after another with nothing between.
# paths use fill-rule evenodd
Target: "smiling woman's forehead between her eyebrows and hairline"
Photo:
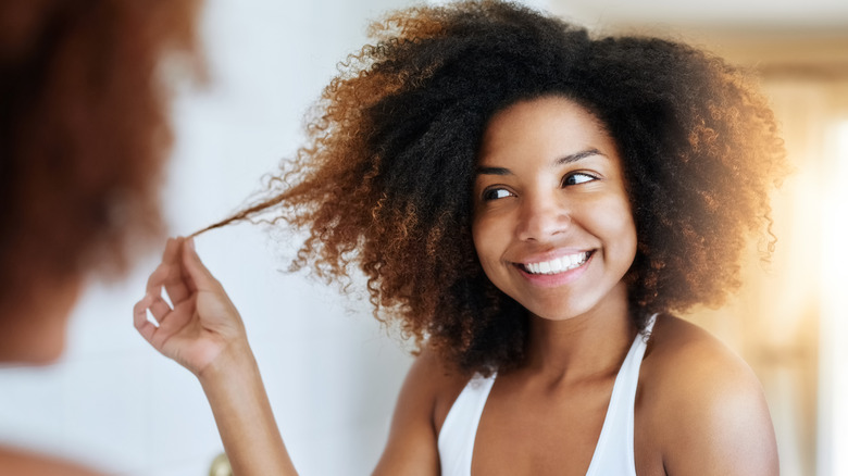
<instances>
[{"instance_id":1,"label":"smiling woman's forehead between her eyebrows and hairline","mask_svg":"<svg viewBox=\"0 0 848 476\"><path fill-rule=\"evenodd\" d=\"M613 138L589 110L563 97L546 96L497 112L484 130L477 161L556 156L593 148L616 154Z\"/></svg>"}]
</instances>

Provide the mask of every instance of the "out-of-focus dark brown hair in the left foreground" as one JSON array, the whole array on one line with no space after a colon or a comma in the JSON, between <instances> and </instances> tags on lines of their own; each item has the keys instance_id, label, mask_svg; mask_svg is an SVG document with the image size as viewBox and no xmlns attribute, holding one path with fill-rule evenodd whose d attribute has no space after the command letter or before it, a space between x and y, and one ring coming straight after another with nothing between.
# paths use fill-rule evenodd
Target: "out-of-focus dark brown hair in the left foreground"
<instances>
[{"instance_id":1,"label":"out-of-focus dark brown hair in the left foreground","mask_svg":"<svg viewBox=\"0 0 848 476\"><path fill-rule=\"evenodd\" d=\"M123 272L162 233L171 80L202 78L199 3L0 3L3 308L38 286Z\"/></svg>"}]
</instances>

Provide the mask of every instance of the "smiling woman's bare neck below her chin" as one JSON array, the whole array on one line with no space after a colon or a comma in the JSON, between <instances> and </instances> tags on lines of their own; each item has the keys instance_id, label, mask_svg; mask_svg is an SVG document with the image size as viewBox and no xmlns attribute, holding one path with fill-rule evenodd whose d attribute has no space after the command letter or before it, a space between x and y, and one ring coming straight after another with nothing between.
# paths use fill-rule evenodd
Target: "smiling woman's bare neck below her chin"
<instances>
[{"instance_id":1,"label":"smiling woman's bare neck below her chin","mask_svg":"<svg viewBox=\"0 0 848 476\"><path fill-rule=\"evenodd\" d=\"M556 380L614 374L635 336L622 283L586 313L561 321L531 315L524 367Z\"/></svg>"}]
</instances>

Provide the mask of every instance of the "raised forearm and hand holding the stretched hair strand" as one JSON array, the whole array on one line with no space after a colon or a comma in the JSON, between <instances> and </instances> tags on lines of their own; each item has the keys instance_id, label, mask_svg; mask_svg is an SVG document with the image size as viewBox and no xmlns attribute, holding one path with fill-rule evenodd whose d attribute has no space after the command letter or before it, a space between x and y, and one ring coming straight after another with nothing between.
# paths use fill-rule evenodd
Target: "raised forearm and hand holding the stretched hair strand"
<instances>
[{"instance_id":1,"label":"raised forearm and hand holding the stretched hair strand","mask_svg":"<svg viewBox=\"0 0 848 476\"><path fill-rule=\"evenodd\" d=\"M162 288L171 300L162 298ZM173 305L173 306L172 306ZM147 312L158 326L148 322ZM239 476L295 475L241 317L192 241L171 239L134 308L139 334L200 380Z\"/></svg>"}]
</instances>

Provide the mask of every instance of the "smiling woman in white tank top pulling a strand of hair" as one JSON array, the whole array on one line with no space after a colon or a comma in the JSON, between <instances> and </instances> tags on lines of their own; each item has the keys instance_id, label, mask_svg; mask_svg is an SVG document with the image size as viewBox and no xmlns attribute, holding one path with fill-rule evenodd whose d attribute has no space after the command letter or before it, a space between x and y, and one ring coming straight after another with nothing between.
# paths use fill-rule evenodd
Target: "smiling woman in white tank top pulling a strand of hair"
<instances>
[{"instance_id":1,"label":"smiling woman in white tank top pulling a strand of hair","mask_svg":"<svg viewBox=\"0 0 848 476\"><path fill-rule=\"evenodd\" d=\"M376 473L776 474L756 377L672 314L721 304L769 221L783 150L746 78L497 1L397 12L373 34L266 199L210 228L308 228L295 267L345 286L359 266L375 316L414 336ZM294 474L190 239L169 242L134 311L200 379L236 474Z\"/></svg>"}]
</instances>

